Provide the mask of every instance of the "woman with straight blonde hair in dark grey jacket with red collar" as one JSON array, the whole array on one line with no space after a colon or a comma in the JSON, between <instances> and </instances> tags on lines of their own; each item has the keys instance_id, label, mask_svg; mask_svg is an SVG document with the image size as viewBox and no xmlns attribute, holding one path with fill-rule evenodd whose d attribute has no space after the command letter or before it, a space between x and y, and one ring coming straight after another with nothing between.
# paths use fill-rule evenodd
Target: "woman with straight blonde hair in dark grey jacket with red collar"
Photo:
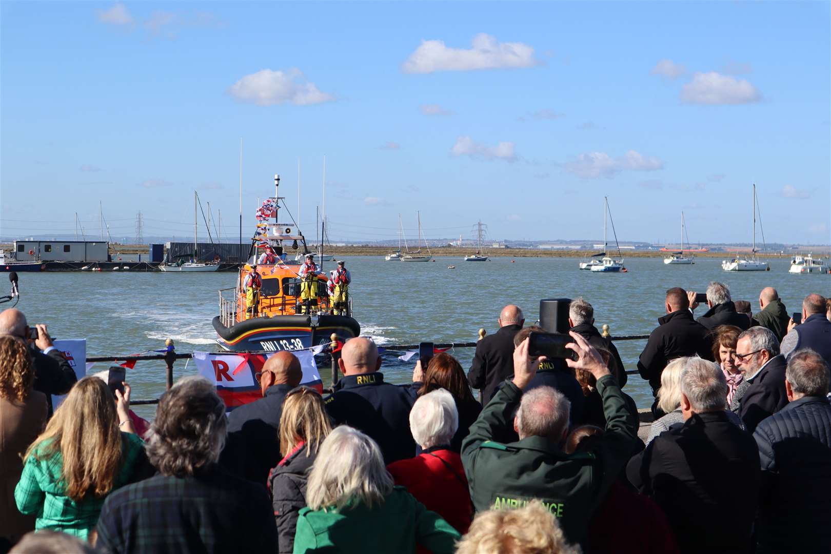
<instances>
[{"instance_id":1,"label":"woman with straight blonde hair in dark grey jacket with red collar","mask_svg":"<svg viewBox=\"0 0 831 554\"><path fill-rule=\"evenodd\" d=\"M268 488L277 522L278 552L282 554L293 551L297 512L306 506L308 470L317 459L323 439L332 433L323 399L316 390L301 386L286 395L279 429L280 452L284 455L268 474Z\"/></svg>"}]
</instances>

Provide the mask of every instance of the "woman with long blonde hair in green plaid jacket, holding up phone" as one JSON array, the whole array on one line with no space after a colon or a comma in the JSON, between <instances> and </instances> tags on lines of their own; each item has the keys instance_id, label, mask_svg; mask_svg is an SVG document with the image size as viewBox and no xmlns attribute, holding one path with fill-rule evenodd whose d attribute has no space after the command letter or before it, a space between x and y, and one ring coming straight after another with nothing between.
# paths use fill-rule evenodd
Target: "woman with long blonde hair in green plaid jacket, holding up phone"
<instances>
[{"instance_id":1,"label":"woman with long blonde hair in green plaid jacket, holding up phone","mask_svg":"<svg viewBox=\"0 0 831 554\"><path fill-rule=\"evenodd\" d=\"M106 496L150 473L130 422L130 385L124 388L114 401L101 379L79 380L27 450L14 498L21 512L37 516L36 529L86 538Z\"/></svg>"}]
</instances>

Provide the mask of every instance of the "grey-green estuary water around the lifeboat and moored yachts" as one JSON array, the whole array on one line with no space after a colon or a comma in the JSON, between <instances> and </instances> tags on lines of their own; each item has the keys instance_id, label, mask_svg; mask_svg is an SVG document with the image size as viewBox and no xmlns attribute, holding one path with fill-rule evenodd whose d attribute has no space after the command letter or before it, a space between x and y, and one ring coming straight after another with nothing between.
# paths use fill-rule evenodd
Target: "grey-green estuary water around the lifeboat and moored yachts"
<instances>
[{"instance_id":1,"label":"grey-green estuary water around the lifeboat and moored yachts","mask_svg":"<svg viewBox=\"0 0 831 554\"><path fill-rule=\"evenodd\" d=\"M582 296L595 310L597 327L607 323L612 335L648 334L662 316L664 291L684 287L703 292L708 282L730 286L735 300L758 306L762 287L773 286L789 311L801 310L809 292L831 294L829 275L790 275L789 259L772 260L770 272L722 272L720 260L701 259L692 266L666 266L660 258L633 258L627 273L578 271L574 258L494 258L464 262L439 257L436 262L386 262L383 257L347 257L352 272L355 316L362 334L379 345L419 341L475 341L476 331L497 329L502 306L523 308L527 322L538 317L541 298ZM448 269L453 264L455 269ZM333 267L327 262L327 267ZM217 291L234 287L236 275L224 273L21 273L21 301L30 324L47 323L53 336L86 338L87 355L128 355L161 348L174 339L179 352L217 350L211 319L217 313ZM2 307L2 306L0 306ZM704 309L699 307L696 315ZM627 369L635 369L644 341L620 341ZM467 369L473 349L455 349ZM106 369L99 364L96 369ZM387 380L409 380L412 364L387 356ZM175 376L194 373L176 363ZM327 380L329 370L321 367ZM165 388L165 366L139 362L127 373L134 395L155 398ZM639 406L652 402L648 386L637 375L626 387ZM137 407L145 417L154 408Z\"/></svg>"}]
</instances>

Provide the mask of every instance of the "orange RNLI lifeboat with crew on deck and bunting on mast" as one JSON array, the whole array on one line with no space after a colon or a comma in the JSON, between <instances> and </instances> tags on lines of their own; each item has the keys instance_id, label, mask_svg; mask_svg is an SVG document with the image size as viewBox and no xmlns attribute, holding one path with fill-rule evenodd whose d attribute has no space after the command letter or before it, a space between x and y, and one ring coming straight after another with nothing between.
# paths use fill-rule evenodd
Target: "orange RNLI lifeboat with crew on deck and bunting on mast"
<instances>
[{"instance_id":1,"label":"orange RNLI lifeboat with crew on deck and bunting on mast","mask_svg":"<svg viewBox=\"0 0 831 554\"><path fill-rule=\"evenodd\" d=\"M219 291L213 325L225 350L298 351L327 344L332 334L346 341L361 333L348 293L344 306L336 309L322 264L304 274L301 264L288 257L287 250L302 246L307 252L307 245L296 223L279 222L279 183L275 175L274 196L258 209L253 255L240 268L236 286ZM252 282L260 284L247 286ZM253 308L248 307L249 288L258 291Z\"/></svg>"}]
</instances>

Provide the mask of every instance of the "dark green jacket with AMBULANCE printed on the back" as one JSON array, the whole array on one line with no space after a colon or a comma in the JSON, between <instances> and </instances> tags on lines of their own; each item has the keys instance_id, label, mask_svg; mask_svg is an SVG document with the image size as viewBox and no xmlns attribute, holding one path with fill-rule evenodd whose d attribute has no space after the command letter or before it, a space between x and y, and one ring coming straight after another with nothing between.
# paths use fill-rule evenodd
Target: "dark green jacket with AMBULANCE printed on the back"
<instances>
[{"instance_id":1,"label":"dark green jacket with AMBULANCE printed on the back","mask_svg":"<svg viewBox=\"0 0 831 554\"><path fill-rule=\"evenodd\" d=\"M627 410L614 377L598 380L597 390L606 434L589 452L569 455L543 437L504 444L513 431L522 391L512 382L502 386L462 443L462 463L477 512L523 507L539 499L558 517L568 542L583 542L597 505L639 443L637 418Z\"/></svg>"}]
</instances>

